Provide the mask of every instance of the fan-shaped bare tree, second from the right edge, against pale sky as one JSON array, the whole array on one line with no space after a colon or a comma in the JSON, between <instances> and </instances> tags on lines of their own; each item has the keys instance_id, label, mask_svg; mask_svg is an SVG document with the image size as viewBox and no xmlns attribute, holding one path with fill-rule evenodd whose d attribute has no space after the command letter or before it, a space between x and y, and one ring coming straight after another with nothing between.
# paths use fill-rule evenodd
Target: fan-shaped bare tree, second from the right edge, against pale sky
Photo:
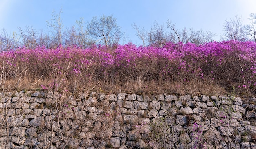
<instances>
[{"instance_id":1,"label":"fan-shaped bare tree, second from the right edge, against pale sky","mask_svg":"<svg viewBox=\"0 0 256 149\"><path fill-rule=\"evenodd\" d=\"M245 27L242 24L241 17L238 14L229 20L225 20L223 24L223 35L222 40L248 40Z\"/></svg>"}]
</instances>

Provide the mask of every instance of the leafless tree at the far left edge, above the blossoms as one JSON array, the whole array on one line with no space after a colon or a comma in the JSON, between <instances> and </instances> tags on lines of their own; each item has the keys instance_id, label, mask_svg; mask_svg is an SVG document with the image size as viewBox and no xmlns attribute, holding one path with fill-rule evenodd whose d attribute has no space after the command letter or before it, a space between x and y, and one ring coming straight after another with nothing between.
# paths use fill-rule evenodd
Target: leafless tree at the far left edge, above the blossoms
<instances>
[{"instance_id":1,"label":"leafless tree at the far left edge, above the blossoms","mask_svg":"<svg viewBox=\"0 0 256 149\"><path fill-rule=\"evenodd\" d=\"M16 49L19 46L19 36L16 32L7 33L4 29L0 32L0 51Z\"/></svg>"}]
</instances>

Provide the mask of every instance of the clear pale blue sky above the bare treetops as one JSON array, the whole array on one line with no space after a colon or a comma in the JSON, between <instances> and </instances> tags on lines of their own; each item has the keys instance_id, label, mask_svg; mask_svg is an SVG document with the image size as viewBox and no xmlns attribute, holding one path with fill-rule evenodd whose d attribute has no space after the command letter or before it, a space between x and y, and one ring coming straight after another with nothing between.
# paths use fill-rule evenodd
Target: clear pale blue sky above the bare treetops
<instances>
[{"instance_id":1,"label":"clear pale blue sky above the bare treetops","mask_svg":"<svg viewBox=\"0 0 256 149\"><path fill-rule=\"evenodd\" d=\"M32 26L47 31L46 21L52 11L58 13L65 27L75 25L83 17L85 22L94 16L117 18L117 24L128 35L126 42L141 44L131 24L150 29L155 21L166 25L170 19L177 29L183 27L216 33L220 39L223 23L236 13L243 24L249 23L249 14L256 13L256 0L0 0L0 29L18 32L17 27Z\"/></svg>"}]
</instances>

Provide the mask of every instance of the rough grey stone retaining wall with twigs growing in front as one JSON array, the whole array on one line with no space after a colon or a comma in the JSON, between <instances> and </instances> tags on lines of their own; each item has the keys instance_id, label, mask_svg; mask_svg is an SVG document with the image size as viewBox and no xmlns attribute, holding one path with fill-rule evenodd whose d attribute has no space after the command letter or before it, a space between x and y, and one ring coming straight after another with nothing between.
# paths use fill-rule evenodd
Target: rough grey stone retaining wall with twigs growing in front
<instances>
[{"instance_id":1,"label":"rough grey stone retaining wall with twigs growing in front","mask_svg":"<svg viewBox=\"0 0 256 149\"><path fill-rule=\"evenodd\" d=\"M0 99L1 149L256 148L253 97L21 91Z\"/></svg>"}]
</instances>

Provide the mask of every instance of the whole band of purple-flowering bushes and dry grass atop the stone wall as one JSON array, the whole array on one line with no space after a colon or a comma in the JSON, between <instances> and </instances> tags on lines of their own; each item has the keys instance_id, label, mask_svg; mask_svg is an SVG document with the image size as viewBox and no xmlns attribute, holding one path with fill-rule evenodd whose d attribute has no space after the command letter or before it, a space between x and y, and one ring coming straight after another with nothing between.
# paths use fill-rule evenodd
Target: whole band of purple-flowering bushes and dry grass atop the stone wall
<instances>
[{"instance_id":1,"label":"whole band of purple-flowering bushes and dry grass atop the stone wall","mask_svg":"<svg viewBox=\"0 0 256 149\"><path fill-rule=\"evenodd\" d=\"M0 53L1 90L256 94L256 43L236 40L18 48Z\"/></svg>"}]
</instances>

